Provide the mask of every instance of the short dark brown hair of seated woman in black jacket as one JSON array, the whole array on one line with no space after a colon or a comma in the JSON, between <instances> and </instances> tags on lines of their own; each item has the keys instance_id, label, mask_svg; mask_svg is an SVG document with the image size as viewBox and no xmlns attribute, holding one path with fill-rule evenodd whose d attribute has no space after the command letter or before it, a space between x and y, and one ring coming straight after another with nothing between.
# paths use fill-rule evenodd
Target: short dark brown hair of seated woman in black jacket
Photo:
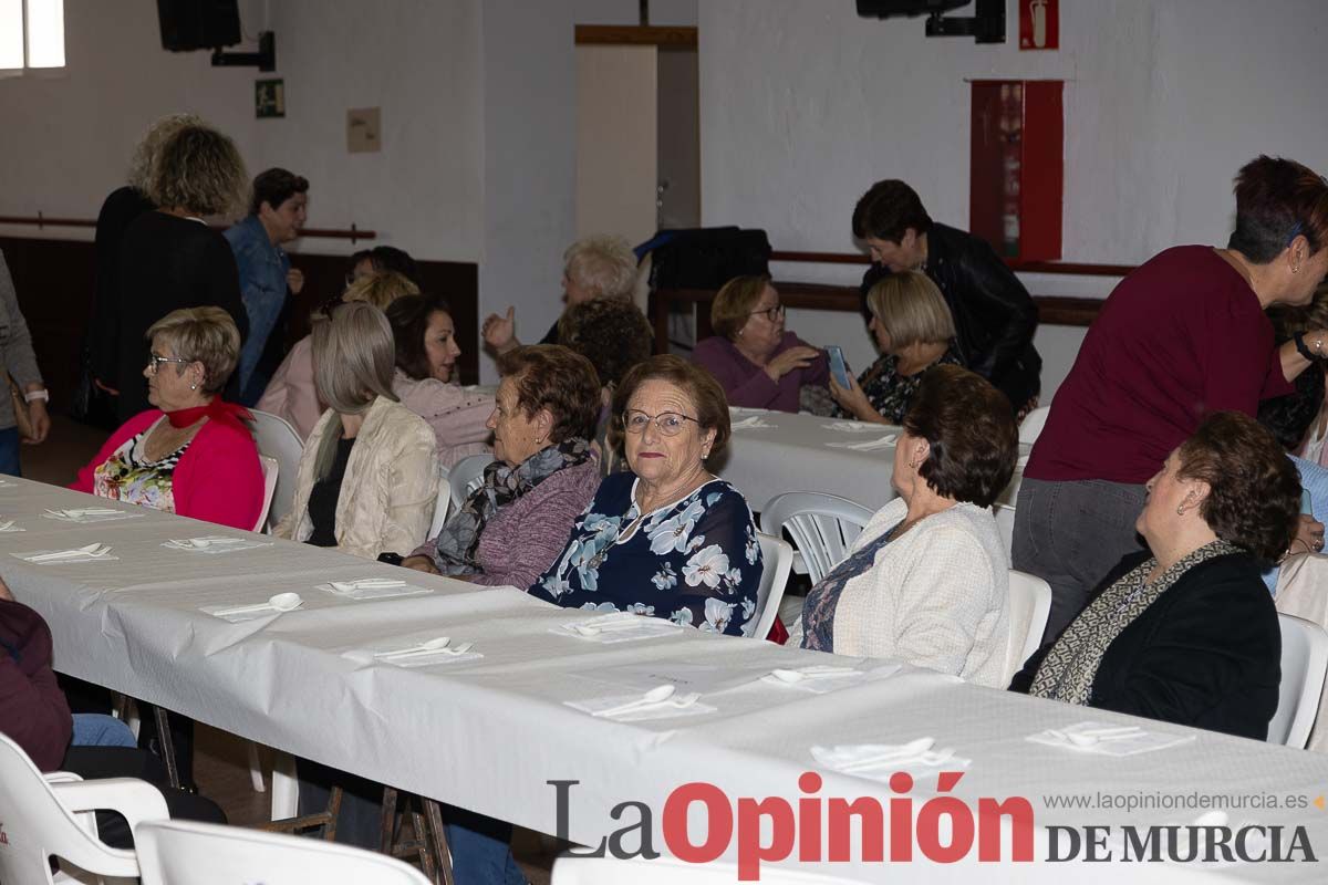
<instances>
[{"instance_id":1,"label":"short dark brown hair of seated woman in black jacket","mask_svg":"<svg viewBox=\"0 0 1328 885\"><path fill-rule=\"evenodd\" d=\"M1208 484L1199 515L1218 537L1276 563L1300 524L1300 475L1267 429L1239 411L1215 411L1178 450L1185 479Z\"/></svg>"}]
</instances>

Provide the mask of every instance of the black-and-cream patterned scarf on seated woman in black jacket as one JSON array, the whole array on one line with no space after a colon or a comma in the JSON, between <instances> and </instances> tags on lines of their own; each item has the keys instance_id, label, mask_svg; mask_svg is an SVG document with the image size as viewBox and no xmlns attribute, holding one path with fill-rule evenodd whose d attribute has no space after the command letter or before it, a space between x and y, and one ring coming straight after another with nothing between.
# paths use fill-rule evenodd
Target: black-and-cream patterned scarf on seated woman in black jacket
<instances>
[{"instance_id":1,"label":"black-and-cream patterned scarf on seated woman in black jacket","mask_svg":"<svg viewBox=\"0 0 1328 885\"><path fill-rule=\"evenodd\" d=\"M1093 679L1102 665L1102 655L1116 637L1134 618L1143 614L1158 597L1199 563L1216 556L1239 553L1240 548L1223 540L1204 544L1179 563L1162 572L1149 584L1149 573L1157 568L1157 559L1149 557L1112 586L1102 590L1084 612L1056 640L1037 667L1029 694L1065 703L1088 706L1093 694Z\"/></svg>"}]
</instances>

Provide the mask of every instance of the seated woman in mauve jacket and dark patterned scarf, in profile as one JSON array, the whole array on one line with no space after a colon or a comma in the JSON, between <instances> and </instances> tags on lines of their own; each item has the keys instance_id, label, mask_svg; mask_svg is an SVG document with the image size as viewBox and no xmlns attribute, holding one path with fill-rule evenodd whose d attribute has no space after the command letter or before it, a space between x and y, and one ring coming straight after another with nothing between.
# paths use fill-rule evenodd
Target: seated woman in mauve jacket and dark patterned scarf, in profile
<instances>
[{"instance_id":1,"label":"seated woman in mauve jacket and dark patterned scarf, in profile","mask_svg":"<svg viewBox=\"0 0 1328 885\"><path fill-rule=\"evenodd\" d=\"M525 588L552 564L599 484L590 444L599 379L586 357L554 344L505 353L498 369L503 379L489 418L497 460L438 537L401 564Z\"/></svg>"}]
</instances>

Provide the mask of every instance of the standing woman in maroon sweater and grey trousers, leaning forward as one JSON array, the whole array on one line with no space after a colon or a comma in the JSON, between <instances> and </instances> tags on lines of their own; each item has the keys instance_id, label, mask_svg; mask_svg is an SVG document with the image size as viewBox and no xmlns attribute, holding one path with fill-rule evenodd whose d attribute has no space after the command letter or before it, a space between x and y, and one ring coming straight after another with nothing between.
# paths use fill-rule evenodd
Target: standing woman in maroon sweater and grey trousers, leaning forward
<instances>
[{"instance_id":1,"label":"standing woman in maroon sweater and grey trousers, leaning forward","mask_svg":"<svg viewBox=\"0 0 1328 885\"><path fill-rule=\"evenodd\" d=\"M1181 245L1116 288L1033 446L1013 564L1052 585L1046 640L1123 556L1142 549L1143 483L1204 415L1259 401L1328 357L1328 330L1274 342L1264 310L1307 304L1328 272L1328 182L1260 157L1236 176L1227 248Z\"/></svg>"}]
</instances>

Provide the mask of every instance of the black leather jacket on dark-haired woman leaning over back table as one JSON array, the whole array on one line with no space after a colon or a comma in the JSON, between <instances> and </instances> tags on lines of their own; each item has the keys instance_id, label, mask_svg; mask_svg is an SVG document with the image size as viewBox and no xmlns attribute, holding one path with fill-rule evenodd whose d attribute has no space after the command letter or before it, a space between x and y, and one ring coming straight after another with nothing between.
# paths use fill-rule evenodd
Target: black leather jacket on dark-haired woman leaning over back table
<instances>
[{"instance_id":1,"label":"black leather jacket on dark-haired woman leaning over back table","mask_svg":"<svg viewBox=\"0 0 1328 885\"><path fill-rule=\"evenodd\" d=\"M871 287L890 271L862 277L863 314ZM959 357L991 381L1015 409L1037 395L1042 358L1033 348L1037 305L1019 277L983 239L944 224L927 231L927 268L955 318Z\"/></svg>"}]
</instances>

